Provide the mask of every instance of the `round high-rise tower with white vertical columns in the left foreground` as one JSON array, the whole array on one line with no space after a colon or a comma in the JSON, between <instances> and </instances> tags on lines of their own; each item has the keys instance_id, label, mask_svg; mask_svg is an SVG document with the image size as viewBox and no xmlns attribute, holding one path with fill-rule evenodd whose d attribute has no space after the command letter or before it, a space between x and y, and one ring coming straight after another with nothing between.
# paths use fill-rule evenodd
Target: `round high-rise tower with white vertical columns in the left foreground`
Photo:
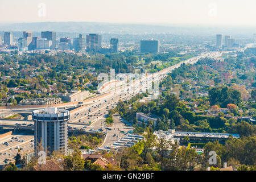
<instances>
[{"instance_id":1,"label":"round high-rise tower with white vertical columns in the left foreground","mask_svg":"<svg viewBox=\"0 0 256 182\"><path fill-rule=\"evenodd\" d=\"M42 144L43 150L49 153L60 151L67 155L68 152L68 110L57 107L46 107L32 111L34 125L35 151Z\"/></svg>"}]
</instances>

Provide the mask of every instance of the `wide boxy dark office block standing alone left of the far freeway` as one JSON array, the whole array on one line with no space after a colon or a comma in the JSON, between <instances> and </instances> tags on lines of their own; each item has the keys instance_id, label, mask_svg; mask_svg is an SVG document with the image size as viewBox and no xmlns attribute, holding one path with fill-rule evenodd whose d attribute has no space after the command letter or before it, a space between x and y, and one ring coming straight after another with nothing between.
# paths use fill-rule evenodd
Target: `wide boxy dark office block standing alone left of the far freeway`
<instances>
[{"instance_id":1,"label":"wide boxy dark office block standing alone left of the far freeway","mask_svg":"<svg viewBox=\"0 0 256 182\"><path fill-rule=\"evenodd\" d=\"M159 40L141 40L141 52L143 53L158 53Z\"/></svg>"}]
</instances>

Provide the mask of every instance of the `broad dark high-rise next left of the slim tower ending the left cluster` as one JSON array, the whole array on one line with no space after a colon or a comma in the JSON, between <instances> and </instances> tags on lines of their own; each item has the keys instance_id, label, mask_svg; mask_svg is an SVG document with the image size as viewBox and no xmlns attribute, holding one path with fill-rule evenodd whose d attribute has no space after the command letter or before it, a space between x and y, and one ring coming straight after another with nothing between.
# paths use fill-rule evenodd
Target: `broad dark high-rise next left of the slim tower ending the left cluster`
<instances>
[{"instance_id":1,"label":"broad dark high-rise next left of the slim tower ending the left cluster","mask_svg":"<svg viewBox=\"0 0 256 182\"><path fill-rule=\"evenodd\" d=\"M101 49L101 35L89 34L86 35L86 50L98 52Z\"/></svg>"}]
</instances>

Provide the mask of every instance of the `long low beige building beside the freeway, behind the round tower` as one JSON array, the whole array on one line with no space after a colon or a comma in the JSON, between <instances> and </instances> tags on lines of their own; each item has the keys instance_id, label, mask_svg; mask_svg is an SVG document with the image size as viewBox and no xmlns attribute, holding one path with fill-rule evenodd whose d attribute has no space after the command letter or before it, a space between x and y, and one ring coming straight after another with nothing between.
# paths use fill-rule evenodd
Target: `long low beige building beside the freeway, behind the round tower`
<instances>
[{"instance_id":1,"label":"long low beige building beside the freeway, behind the round tower","mask_svg":"<svg viewBox=\"0 0 256 182\"><path fill-rule=\"evenodd\" d=\"M67 101L67 102L78 102L78 101L83 101L85 98L90 97L92 94L90 94L89 91L83 91L81 90L76 90L75 92L71 92L65 95L59 95L61 100Z\"/></svg>"}]
</instances>

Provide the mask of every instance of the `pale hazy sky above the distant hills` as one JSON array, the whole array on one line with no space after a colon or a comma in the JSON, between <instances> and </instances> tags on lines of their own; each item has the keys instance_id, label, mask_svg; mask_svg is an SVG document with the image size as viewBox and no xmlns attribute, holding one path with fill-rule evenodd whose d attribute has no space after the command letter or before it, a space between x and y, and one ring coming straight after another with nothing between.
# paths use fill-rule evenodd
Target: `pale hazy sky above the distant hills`
<instances>
[{"instance_id":1,"label":"pale hazy sky above the distant hills","mask_svg":"<svg viewBox=\"0 0 256 182\"><path fill-rule=\"evenodd\" d=\"M256 26L255 9L256 0L0 0L0 22Z\"/></svg>"}]
</instances>

